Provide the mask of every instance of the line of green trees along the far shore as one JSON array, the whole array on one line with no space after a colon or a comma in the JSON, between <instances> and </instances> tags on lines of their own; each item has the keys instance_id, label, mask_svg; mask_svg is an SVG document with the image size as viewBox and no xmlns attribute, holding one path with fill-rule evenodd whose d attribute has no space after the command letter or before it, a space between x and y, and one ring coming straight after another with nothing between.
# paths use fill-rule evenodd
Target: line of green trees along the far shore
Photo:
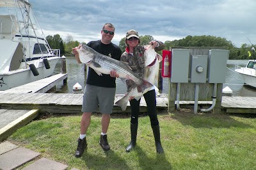
<instances>
[{"instance_id":1,"label":"line of green trees along the far shore","mask_svg":"<svg viewBox=\"0 0 256 170\"><path fill-rule=\"evenodd\" d=\"M77 47L80 42L74 41L72 35L67 35L65 42L60 35L47 36L47 42L52 49L60 49L61 56L69 56L72 54L72 48ZM146 45L154 40L153 36L140 36L141 45ZM82 42L85 43L85 42ZM86 43L85 43L86 44ZM241 47L236 47L231 41L226 38L202 35L202 36L186 36L180 40L164 42L164 49L170 50L170 47L225 47L230 50L229 59L256 59L256 52L253 44L244 43ZM125 37L119 42L119 47L122 52L125 51ZM161 52L159 52L161 54Z\"/></svg>"}]
</instances>

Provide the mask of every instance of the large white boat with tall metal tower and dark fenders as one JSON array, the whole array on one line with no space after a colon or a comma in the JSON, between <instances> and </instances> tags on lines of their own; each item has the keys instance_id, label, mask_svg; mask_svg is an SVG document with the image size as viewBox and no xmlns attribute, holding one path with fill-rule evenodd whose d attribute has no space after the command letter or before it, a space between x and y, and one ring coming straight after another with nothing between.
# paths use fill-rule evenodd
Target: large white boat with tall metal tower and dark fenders
<instances>
[{"instance_id":1,"label":"large white boat with tall metal tower and dark fenders","mask_svg":"<svg viewBox=\"0 0 256 170\"><path fill-rule=\"evenodd\" d=\"M0 90L49 77L60 59L28 0L0 1Z\"/></svg>"}]
</instances>

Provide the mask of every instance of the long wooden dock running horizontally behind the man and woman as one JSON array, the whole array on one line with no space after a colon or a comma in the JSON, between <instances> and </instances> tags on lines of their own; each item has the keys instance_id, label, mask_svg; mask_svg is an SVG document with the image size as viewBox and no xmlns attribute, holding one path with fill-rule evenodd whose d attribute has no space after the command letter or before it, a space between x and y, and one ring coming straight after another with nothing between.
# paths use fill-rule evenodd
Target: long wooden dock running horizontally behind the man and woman
<instances>
[{"instance_id":1,"label":"long wooden dock running horizontally behind the man and woman","mask_svg":"<svg viewBox=\"0 0 256 170\"><path fill-rule=\"evenodd\" d=\"M116 95L115 102L124 95ZM167 109L168 95L156 97L157 109ZM6 93L0 92L1 109L39 109L40 112L79 113L83 103L83 94L73 93ZM211 101L198 101L198 105L211 105ZM193 101L180 101L180 105L192 105ZM141 98L141 112L147 111L147 104ZM126 111L114 105L113 112L130 112L129 102ZM221 109L227 113L255 113L256 97L222 97Z\"/></svg>"}]
</instances>

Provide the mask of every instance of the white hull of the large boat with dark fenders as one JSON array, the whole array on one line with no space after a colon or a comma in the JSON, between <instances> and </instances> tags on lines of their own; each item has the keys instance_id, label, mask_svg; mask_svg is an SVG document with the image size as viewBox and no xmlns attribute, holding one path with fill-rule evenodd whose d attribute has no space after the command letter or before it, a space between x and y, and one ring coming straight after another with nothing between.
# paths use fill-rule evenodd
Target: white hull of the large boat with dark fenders
<instances>
[{"instance_id":1,"label":"white hull of the large boat with dark fenders","mask_svg":"<svg viewBox=\"0 0 256 170\"><path fill-rule=\"evenodd\" d=\"M47 69L44 65L44 61L41 59L41 61L38 61L38 65L36 66L36 70L39 73L39 75L36 76L33 74L29 67L0 74L0 91L15 88L17 86L21 86L33 81L38 81L40 79L44 79L45 77L51 76L60 58L53 57L47 60L49 61L50 68Z\"/></svg>"}]
</instances>

